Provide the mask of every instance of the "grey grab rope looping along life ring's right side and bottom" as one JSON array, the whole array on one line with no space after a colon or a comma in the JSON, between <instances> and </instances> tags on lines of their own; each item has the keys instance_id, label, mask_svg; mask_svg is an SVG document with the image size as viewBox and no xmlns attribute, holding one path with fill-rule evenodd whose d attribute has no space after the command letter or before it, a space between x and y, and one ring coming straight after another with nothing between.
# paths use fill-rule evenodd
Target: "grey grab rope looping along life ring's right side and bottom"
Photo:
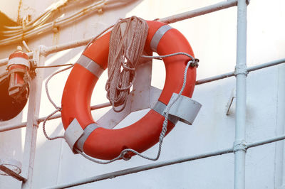
<instances>
[{"instance_id":1,"label":"grey grab rope looping along life ring's right side and bottom","mask_svg":"<svg viewBox=\"0 0 285 189\"><path fill-rule=\"evenodd\" d=\"M169 116L170 108L172 107L173 104L175 104L177 99L180 98L183 90L185 89L185 85L186 85L186 81L187 81L187 70L188 70L188 68L190 66L192 66L192 67L197 66L197 62L199 62L199 60L193 58L192 55L189 55L187 53L173 53L173 54L169 54L169 55L160 55L160 56L142 55L143 58L160 58L160 59L161 58L167 58L167 57L174 56L174 55L186 55L187 57L191 58L191 60L188 61L187 65L185 67L185 72L184 72L184 76L183 76L183 84L182 84L180 92L178 93L177 97L175 97L175 99L171 103L167 104L167 107L165 108L165 120L163 121L163 124L162 124L162 131L160 132L160 139L159 139L157 156L155 156L155 158L147 157L147 156L143 155L142 153L139 153L138 151L135 151L134 149L131 149L131 148L124 149L123 151L120 152L119 156L117 156L116 158L113 158L110 161L99 161L95 158L92 158L92 157L86 155L86 153L79 151L77 148L75 149L76 152L80 153L83 157L87 158L88 160L93 161L95 163L100 163L100 164L112 163L113 161L117 161L120 158L123 158L123 160L128 161L130 159L130 157L126 157L125 155L129 152L135 153L136 155L138 155L142 158L148 159L150 161L157 161L157 159L160 158L160 153L162 151L163 139L165 138L165 134L167 132L167 124L168 124L168 116Z\"/></svg>"}]
</instances>

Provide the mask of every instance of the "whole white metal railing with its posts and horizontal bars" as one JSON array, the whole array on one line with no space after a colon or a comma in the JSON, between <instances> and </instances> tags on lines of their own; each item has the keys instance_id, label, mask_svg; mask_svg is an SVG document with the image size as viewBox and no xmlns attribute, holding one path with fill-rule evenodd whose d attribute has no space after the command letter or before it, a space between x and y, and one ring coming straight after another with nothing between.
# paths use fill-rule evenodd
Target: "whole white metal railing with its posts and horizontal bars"
<instances>
[{"instance_id":1,"label":"whole white metal railing with its posts and horizontal bars","mask_svg":"<svg viewBox=\"0 0 285 189\"><path fill-rule=\"evenodd\" d=\"M200 9L195 9L193 11L187 11L185 13L180 13L174 16L170 16L167 18L161 18L158 21L162 21L165 23L175 23L177 21L182 21L187 18L193 18L195 16L201 16L206 13L212 13L214 11L219 11L222 9L227 9L232 6L237 6L237 65L234 72L228 72L222 75L217 75L214 77L208 77L202 80L198 80L196 82L197 85L201 85L206 82L212 82L215 80L224 79L227 77L235 76L237 78L236 85L237 85L237 107L236 107L236 136L233 147L225 148L219 151L212 151L209 153L202 153L195 156L188 156L185 158L177 158L170 161L163 161L157 163L151 163L145 166L138 166L134 168L128 168L121 171L115 171L112 173L107 173L103 175L97 175L90 178L85 178L83 180L78 180L73 183L67 183L62 185L56 185L51 188L69 188L76 185L83 185L86 183L92 183L99 180L105 180L108 178L115 178L121 175L128 175L130 173L138 173L140 171L146 171L153 168L159 168L162 166L170 166L176 163L183 163L186 161L194 161L200 158L207 158L211 156L218 156L226 153L234 153L234 188L235 189L244 189L245 188L245 156L247 152L247 148L252 148L255 146L260 146L264 144L269 144L271 142L280 141L285 139L285 135L282 136L275 136L271 139L264 139L262 141L256 141L250 144L247 144L245 141L245 117L246 117L246 85L247 85L247 73L252 72L254 70L259 70L262 68L267 68L269 66L279 65L281 63L285 63L285 58L280 60L274 60L269 63L264 63L261 65L256 65L250 68L247 68L247 4L249 1L247 0L228 0L222 1L217 4L213 4L210 6L205 6ZM69 48L76 48L78 46L86 45L91 38L79 40L79 41L72 41L70 43L65 43L62 45L55 45L52 47L44 47L41 46L38 48L38 51L34 53L28 53L30 58L37 59L39 63L43 61L43 57L49 55L51 53L56 53L61 50L66 50ZM0 60L0 66L6 65L8 62L8 58ZM36 90L31 90L31 97L28 107L28 122L24 122L21 124L16 125L8 125L8 126L1 126L0 131L9 131L11 129L19 129L21 127L26 126L26 139L25 139L25 148L24 148L24 162L23 168L24 171L21 174L22 180L26 180L23 182L22 188L29 188L31 187L31 176L33 173L33 158L34 152L36 151L36 131L38 128L38 124L46 119L46 117L37 118L38 109L39 109L39 102L38 97L35 95L38 92L39 87L41 87L41 81L38 80L31 87L35 88ZM33 94L33 95L32 95ZM37 103L38 102L38 103ZM102 107L108 107L110 104L98 104L91 109L99 109ZM35 110L36 109L36 112ZM57 119L60 118L61 114L53 115L50 119Z\"/></svg>"}]
</instances>

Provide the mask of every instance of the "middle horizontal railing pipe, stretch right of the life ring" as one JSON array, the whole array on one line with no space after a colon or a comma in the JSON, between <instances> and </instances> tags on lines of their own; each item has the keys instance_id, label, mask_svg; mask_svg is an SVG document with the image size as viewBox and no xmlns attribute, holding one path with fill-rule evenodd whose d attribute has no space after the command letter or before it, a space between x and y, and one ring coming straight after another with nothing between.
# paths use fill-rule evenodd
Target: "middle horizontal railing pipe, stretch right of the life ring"
<instances>
[{"instance_id":1,"label":"middle horizontal railing pipe, stretch right of the life ring","mask_svg":"<svg viewBox=\"0 0 285 189\"><path fill-rule=\"evenodd\" d=\"M285 58L282 58L282 59L279 59L279 60L273 60L271 62L263 63L263 64L260 64L260 65L254 65L252 67L247 68L247 72L260 70L262 68L268 68L270 66L279 65L281 63L285 63ZM234 76L234 72L227 72L227 73L224 73L222 75L215 75L215 76L212 76L212 77L204 78L202 80L197 80L196 85L201 85L201 84L206 83L206 82L212 82L212 81L216 81L216 80L221 80L221 79L224 79L224 78L227 78L227 77L232 77L232 76Z\"/></svg>"}]
</instances>

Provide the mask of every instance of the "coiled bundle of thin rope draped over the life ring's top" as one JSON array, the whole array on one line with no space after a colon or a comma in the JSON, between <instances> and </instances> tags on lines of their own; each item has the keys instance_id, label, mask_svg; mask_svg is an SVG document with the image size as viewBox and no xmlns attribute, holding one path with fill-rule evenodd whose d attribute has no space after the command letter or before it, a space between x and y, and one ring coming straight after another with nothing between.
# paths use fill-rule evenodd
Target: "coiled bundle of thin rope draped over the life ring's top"
<instances>
[{"instance_id":1,"label":"coiled bundle of thin rope draped over the life ring's top","mask_svg":"<svg viewBox=\"0 0 285 189\"><path fill-rule=\"evenodd\" d=\"M145 47L147 31L147 22L136 16L120 20L112 29L105 90L115 112L125 108L135 80L135 68Z\"/></svg>"}]
</instances>

